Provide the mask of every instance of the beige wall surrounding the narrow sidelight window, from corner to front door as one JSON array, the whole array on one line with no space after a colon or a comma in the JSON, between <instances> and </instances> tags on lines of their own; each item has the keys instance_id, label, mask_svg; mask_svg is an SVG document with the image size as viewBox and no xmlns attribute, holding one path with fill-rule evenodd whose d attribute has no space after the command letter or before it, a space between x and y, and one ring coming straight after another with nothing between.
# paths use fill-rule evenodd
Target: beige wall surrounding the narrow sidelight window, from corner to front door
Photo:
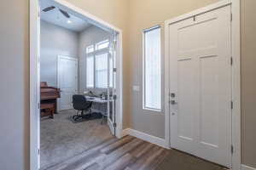
<instances>
[{"instance_id":1,"label":"beige wall surrounding the narrow sidelight window, from corner to front door","mask_svg":"<svg viewBox=\"0 0 256 170\"><path fill-rule=\"evenodd\" d=\"M131 91L131 127L165 138L165 114L143 110L143 29L163 24L165 20L204 7L218 0L130 0L129 57L131 58L131 84L140 86L139 92ZM164 34L164 30L162 29ZM164 44L164 38L162 38ZM164 53L162 53L164 54ZM162 58L164 55L162 56ZM164 71L162 71L164 72ZM164 88L163 88L164 89ZM164 92L163 99L164 99Z\"/></svg>"}]
</instances>

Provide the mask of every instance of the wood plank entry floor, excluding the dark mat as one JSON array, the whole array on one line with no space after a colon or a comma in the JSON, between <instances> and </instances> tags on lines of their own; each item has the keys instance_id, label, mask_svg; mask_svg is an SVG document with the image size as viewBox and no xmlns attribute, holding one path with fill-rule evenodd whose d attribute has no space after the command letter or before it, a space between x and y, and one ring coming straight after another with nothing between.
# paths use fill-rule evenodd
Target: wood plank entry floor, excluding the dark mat
<instances>
[{"instance_id":1,"label":"wood plank entry floor, excluding the dark mat","mask_svg":"<svg viewBox=\"0 0 256 170\"><path fill-rule=\"evenodd\" d=\"M168 150L131 136L111 138L47 170L149 170L167 154Z\"/></svg>"}]
</instances>

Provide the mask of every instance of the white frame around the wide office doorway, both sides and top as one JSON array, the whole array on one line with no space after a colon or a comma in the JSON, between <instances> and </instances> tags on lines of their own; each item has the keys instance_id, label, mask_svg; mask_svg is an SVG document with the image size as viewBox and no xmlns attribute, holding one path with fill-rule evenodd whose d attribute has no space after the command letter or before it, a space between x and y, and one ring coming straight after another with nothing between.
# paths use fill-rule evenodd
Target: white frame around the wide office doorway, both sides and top
<instances>
[{"instance_id":1,"label":"white frame around the wide office doorway, both sides and top","mask_svg":"<svg viewBox=\"0 0 256 170\"><path fill-rule=\"evenodd\" d=\"M116 26L109 24L93 14L88 13L82 8L74 6L72 3L67 3L65 0L54 0L61 8L71 10L75 14L86 18L93 22L96 26L100 26L107 31L115 31L117 33L116 42L116 137L122 137L123 131L123 31ZM39 62L40 62L40 30L38 29L38 18L40 15L39 0L30 0L30 169L38 170L40 167L40 83L39 83Z\"/></svg>"}]
</instances>

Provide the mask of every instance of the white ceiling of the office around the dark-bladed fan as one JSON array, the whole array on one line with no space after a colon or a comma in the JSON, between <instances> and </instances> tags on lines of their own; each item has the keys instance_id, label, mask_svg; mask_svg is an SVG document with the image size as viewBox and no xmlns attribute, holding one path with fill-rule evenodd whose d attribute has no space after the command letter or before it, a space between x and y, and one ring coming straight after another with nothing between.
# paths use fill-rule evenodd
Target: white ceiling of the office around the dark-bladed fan
<instances>
[{"instance_id":1,"label":"white ceiling of the office around the dark-bladed fan","mask_svg":"<svg viewBox=\"0 0 256 170\"><path fill-rule=\"evenodd\" d=\"M56 8L49 10L48 12L43 11L44 8L47 8L50 6L55 6ZM54 3L54 1L52 0L41 0L40 7L41 7L41 14L40 14L41 20L48 21L49 23L52 23L56 26L61 26L71 31L84 31L86 28L91 26L88 21L82 20L79 17L76 17L70 13L68 13L70 15L70 18L67 19L67 17L61 14L56 3ZM70 20L71 23L67 23L67 20Z\"/></svg>"}]
</instances>

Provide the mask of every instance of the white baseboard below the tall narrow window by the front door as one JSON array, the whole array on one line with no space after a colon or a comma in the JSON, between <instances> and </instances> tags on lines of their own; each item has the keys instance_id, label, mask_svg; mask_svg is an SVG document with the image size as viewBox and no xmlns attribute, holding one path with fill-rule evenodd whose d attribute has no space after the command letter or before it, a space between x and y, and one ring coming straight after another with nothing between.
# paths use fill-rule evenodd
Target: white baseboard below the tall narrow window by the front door
<instances>
[{"instance_id":1,"label":"white baseboard below the tall narrow window by the front door","mask_svg":"<svg viewBox=\"0 0 256 170\"><path fill-rule=\"evenodd\" d=\"M128 134L131 136L134 136L138 139L143 139L149 143L157 144L163 148L170 149L168 144L166 144L165 139L160 139L159 137L155 137L148 133L143 133L143 132L131 129L131 128L126 128L125 130L123 130L123 136L128 135Z\"/></svg>"}]
</instances>

